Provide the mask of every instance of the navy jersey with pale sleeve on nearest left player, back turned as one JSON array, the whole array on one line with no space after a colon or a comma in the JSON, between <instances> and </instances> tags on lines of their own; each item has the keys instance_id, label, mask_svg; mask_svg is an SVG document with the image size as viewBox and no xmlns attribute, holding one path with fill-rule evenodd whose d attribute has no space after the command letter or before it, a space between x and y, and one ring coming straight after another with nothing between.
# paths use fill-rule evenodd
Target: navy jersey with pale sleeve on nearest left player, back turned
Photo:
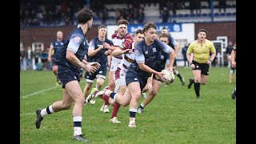
<instances>
[{"instance_id":1,"label":"navy jersey with pale sleeve on nearest left player, back turned","mask_svg":"<svg viewBox=\"0 0 256 144\"><path fill-rule=\"evenodd\" d=\"M86 36L82 32L82 28L78 27L73 30L68 38L66 39L65 46L62 49L62 55L60 58L59 65L64 66L75 73L80 74L80 67L74 66L71 62L66 59L66 50L71 50L75 56L82 62L88 52L88 44L86 42Z\"/></svg>"}]
</instances>

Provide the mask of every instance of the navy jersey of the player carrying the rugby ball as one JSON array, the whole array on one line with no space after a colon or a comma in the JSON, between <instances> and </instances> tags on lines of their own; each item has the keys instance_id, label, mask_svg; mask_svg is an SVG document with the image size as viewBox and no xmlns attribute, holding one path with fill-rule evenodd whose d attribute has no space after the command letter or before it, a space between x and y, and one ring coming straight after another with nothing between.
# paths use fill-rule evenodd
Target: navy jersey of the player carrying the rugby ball
<instances>
[{"instance_id":1,"label":"navy jersey of the player carrying the rugby ball","mask_svg":"<svg viewBox=\"0 0 256 144\"><path fill-rule=\"evenodd\" d=\"M151 74L140 70L139 62L145 62L146 66L156 71L165 69L167 58L169 58L170 46L164 42L154 40L150 46L146 46L145 40L138 42L135 47L135 61L130 65L129 70L137 71L141 77L150 77Z\"/></svg>"}]
</instances>

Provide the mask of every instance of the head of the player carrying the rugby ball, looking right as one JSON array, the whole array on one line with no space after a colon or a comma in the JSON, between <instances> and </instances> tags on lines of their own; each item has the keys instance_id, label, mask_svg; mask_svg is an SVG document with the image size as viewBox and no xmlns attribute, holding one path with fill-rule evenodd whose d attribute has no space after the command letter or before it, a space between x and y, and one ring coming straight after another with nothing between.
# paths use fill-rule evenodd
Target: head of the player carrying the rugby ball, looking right
<instances>
[{"instance_id":1,"label":"head of the player carrying the rugby ball, looking right","mask_svg":"<svg viewBox=\"0 0 256 144\"><path fill-rule=\"evenodd\" d=\"M143 33L147 41L153 42L157 35L158 27L154 25L154 22L147 22L143 27Z\"/></svg>"}]
</instances>

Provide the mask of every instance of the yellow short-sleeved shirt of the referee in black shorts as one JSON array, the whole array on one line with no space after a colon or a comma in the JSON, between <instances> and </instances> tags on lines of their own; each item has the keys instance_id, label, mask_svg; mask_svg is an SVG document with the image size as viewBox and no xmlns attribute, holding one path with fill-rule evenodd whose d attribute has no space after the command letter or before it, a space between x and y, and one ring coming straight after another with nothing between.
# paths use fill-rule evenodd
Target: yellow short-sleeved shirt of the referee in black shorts
<instances>
[{"instance_id":1,"label":"yellow short-sleeved shirt of the referee in black shorts","mask_svg":"<svg viewBox=\"0 0 256 144\"><path fill-rule=\"evenodd\" d=\"M216 51L213 42L205 39L199 42L198 39L190 43L189 48L186 50L187 54L193 53L193 60L198 63L206 63L210 57L210 52Z\"/></svg>"}]
</instances>

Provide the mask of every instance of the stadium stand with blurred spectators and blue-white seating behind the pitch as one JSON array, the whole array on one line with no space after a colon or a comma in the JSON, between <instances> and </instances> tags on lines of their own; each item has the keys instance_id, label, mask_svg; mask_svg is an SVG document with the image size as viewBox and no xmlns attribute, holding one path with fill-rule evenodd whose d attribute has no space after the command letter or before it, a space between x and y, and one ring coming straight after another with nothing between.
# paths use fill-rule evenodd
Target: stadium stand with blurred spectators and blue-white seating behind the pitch
<instances>
[{"instance_id":1,"label":"stadium stand with blurred spectators and blue-white seating behind the pitch","mask_svg":"<svg viewBox=\"0 0 256 144\"><path fill-rule=\"evenodd\" d=\"M176 3L177 2L177 3ZM183 3L182 3L183 2ZM168 10L167 22L234 22L236 21L236 1L227 0L226 8L220 10L218 0L213 1L213 9L207 0L200 1L199 12L191 10L194 1L159 0L155 3L146 1L52 1L23 0L20 3L20 27L30 26L74 26L77 25L75 14L83 6L94 11L94 24L116 24L119 18L130 23L162 22L162 10Z\"/></svg>"}]
</instances>

